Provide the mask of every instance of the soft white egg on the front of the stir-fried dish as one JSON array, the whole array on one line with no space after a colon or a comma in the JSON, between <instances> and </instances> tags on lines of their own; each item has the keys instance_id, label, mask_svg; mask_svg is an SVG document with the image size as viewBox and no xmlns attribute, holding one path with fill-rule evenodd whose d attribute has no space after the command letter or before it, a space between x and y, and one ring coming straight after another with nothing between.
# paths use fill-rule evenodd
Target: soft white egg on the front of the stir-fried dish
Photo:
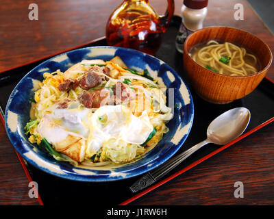
<instances>
[{"instance_id":1,"label":"soft white egg on the front of the stir-fried dish","mask_svg":"<svg viewBox=\"0 0 274 219\"><path fill-rule=\"evenodd\" d=\"M37 130L56 151L81 140L82 157L84 147L84 157L105 150L112 161L122 162L136 156L137 146L147 140L153 125L146 110L137 117L125 105L104 105L95 112L85 107L55 109L40 120Z\"/></svg>"}]
</instances>

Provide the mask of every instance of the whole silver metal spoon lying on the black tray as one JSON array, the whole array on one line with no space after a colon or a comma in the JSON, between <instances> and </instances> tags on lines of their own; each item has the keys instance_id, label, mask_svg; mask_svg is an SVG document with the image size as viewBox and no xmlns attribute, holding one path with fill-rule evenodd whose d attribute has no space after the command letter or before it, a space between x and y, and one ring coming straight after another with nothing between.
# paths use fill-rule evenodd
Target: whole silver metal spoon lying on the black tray
<instances>
[{"instance_id":1,"label":"whole silver metal spoon lying on the black tray","mask_svg":"<svg viewBox=\"0 0 274 219\"><path fill-rule=\"evenodd\" d=\"M231 142L235 138L238 138L238 136L245 131L247 125L249 125L249 120L250 112L245 107L238 107L224 112L215 118L208 126L208 138L206 140L192 146L192 148L177 155L159 168L148 172L136 181L129 189L132 192L138 192L152 183L155 183L155 181L158 181L158 179L166 175L166 173L183 162L187 157L192 155L192 153L195 153L195 151L201 149L202 146L208 143L224 145Z\"/></svg>"}]
</instances>

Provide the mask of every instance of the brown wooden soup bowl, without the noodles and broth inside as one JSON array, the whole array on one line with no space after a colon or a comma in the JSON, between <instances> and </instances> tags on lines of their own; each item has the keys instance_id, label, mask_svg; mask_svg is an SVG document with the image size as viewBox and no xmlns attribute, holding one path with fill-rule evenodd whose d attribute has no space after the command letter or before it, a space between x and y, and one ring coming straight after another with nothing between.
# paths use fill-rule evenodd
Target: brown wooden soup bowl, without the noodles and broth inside
<instances>
[{"instance_id":1,"label":"brown wooden soup bowl, without the noodles and broth inside","mask_svg":"<svg viewBox=\"0 0 274 219\"><path fill-rule=\"evenodd\" d=\"M232 42L256 55L261 69L248 76L229 76L214 73L192 60L189 51L196 44L209 40ZM184 43L184 71L201 98L211 103L229 103L251 93L266 75L272 62L269 47L257 36L232 27L206 27L195 31Z\"/></svg>"}]
</instances>

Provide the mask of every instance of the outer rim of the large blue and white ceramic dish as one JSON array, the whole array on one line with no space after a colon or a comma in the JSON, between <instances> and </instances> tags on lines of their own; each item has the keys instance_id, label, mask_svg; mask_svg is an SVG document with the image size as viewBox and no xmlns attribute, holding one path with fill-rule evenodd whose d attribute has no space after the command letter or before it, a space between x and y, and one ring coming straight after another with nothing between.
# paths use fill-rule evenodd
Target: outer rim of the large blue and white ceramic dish
<instances>
[{"instance_id":1,"label":"outer rim of the large blue and white ceramic dish","mask_svg":"<svg viewBox=\"0 0 274 219\"><path fill-rule=\"evenodd\" d=\"M14 147L14 149L17 150L17 147L14 146L14 143L13 143L13 140L10 136L10 131L8 131L7 127L8 126L8 121L7 121L7 118L8 118L8 109L9 109L9 105L12 101L12 98L14 97L14 95L16 94L14 91L18 88L18 86L22 83L22 81L24 79L27 78L27 76L32 73L33 70L38 70L40 66L42 66L42 64L44 64L45 62L49 62L50 60L53 60L55 57L58 57L60 55L64 55L66 53L69 53L69 52L73 52L73 51L80 51L80 50L84 50L84 49L122 49L122 50L129 50L129 51L134 51L134 52L137 52L137 53L142 53L143 55L149 55L147 53L143 53L142 51L137 51L135 49L129 49L129 48L124 48L124 47L112 47L112 46L95 46L95 47L84 47L84 48L79 48L79 49L73 49L71 51L65 51L64 53L60 53L58 55L55 55L53 57L50 57L49 59L41 62L40 64L38 64L37 66L35 66L34 68L32 68L31 70L29 70L28 73L25 74L25 76L16 84L16 86L14 87L14 89L12 90L10 96L9 96L9 99L8 99L8 102L7 102L7 106L5 107L5 130L6 130L6 133L8 135L8 138L12 144L12 146ZM96 56L96 55L95 55ZM149 55L150 57L153 57L153 59L155 60L158 60L159 62L162 62L164 64L166 64L166 62L160 60L158 57L154 57L153 55ZM166 64L172 71L171 73L177 75L177 77L179 77L180 79L182 79L182 77L179 75L179 73L177 73L177 71L175 71L171 66L169 66L169 64ZM125 175L125 177L123 176L116 176L116 177L99 177L99 178L94 178L92 177L92 175L84 175L84 174L77 174L77 175L73 175L73 172L69 173L69 172L66 172L66 174L60 174L58 172L55 172L53 170L53 168L50 167L50 164L51 162L48 160L48 159L45 159L44 157L42 157L42 159L47 163L47 166L44 167L44 166L40 166L39 164L37 164L36 162L34 162L34 160L32 159L29 159L29 157L26 157L24 153L21 153L21 150L19 149L18 153L24 158L27 160L27 162L29 162L30 164L32 164L33 166L35 166L36 168L38 168L39 170L42 170L43 172L46 172L47 174L50 174L50 175L53 175L55 177L60 177L62 179L69 179L69 180L72 180L72 181L86 181L86 182L108 182L108 181L118 181L118 180L122 180L122 179L129 179L129 178L132 178L132 177L136 177L138 175L141 175L141 174L144 174L145 172L148 172L149 170L152 170L153 168L157 168L158 166L160 166L161 164L163 164L164 162L166 162L168 159L171 159L171 157L173 155L175 155L175 153L177 153L177 151L182 147L182 145L184 144L184 142L186 141L186 138L188 138L189 136L189 133L190 133L190 130L192 129L192 125L193 125L193 120L194 120L194 101L192 99L192 94L190 92L190 89L188 88L186 82L182 79L182 83L184 83L184 86L186 87L186 90L189 94L189 99L190 99L190 120L189 120L189 123L190 123L190 126L189 126L189 129L188 131L184 134L184 136L182 136L182 138L179 140L179 142L177 144L175 144L177 147L173 150L173 152L171 151L166 151L166 153L168 153L168 156L165 156L164 159L160 159L157 164L153 165L153 166L148 166L146 168L146 170L144 169L140 169L138 170L135 174L132 173L132 172L129 172L129 174ZM17 132L17 131L16 131ZM19 136L20 137L20 136ZM25 144L25 142L22 140L22 138L16 138L17 140L19 140L21 142L21 144ZM30 144L29 141L26 142L27 144ZM29 145L28 145L29 146ZM172 153L172 154L171 154ZM171 155L169 155L171 154ZM38 158L40 157L40 155L36 155L38 156ZM166 158L168 157L168 158ZM156 158L158 159L158 157ZM49 163L48 163L49 162ZM59 166L59 162L57 162L57 165ZM142 165L142 166L145 166ZM75 166L73 167L75 168ZM77 167L76 167L77 168ZM133 168L134 171L136 171L136 169L138 168ZM128 171L131 171L131 170L127 170ZM111 174L111 173L110 173ZM109 175L107 175L109 176Z\"/></svg>"}]
</instances>

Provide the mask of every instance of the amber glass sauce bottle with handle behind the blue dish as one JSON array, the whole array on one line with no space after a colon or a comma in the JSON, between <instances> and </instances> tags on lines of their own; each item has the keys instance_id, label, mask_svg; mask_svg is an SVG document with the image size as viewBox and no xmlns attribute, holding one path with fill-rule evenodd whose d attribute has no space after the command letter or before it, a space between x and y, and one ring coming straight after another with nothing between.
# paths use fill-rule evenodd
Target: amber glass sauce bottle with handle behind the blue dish
<instances>
[{"instance_id":1,"label":"amber glass sauce bottle with handle behind the blue dish","mask_svg":"<svg viewBox=\"0 0 274 219\"><path fill-rule=\"evenodd\" d=\"M155 54L174 13L174 1L167 2L165 14L158 15L148 0L123 1L112 12L105 27L108 45Z\"/></svg>"}]
</instances>

